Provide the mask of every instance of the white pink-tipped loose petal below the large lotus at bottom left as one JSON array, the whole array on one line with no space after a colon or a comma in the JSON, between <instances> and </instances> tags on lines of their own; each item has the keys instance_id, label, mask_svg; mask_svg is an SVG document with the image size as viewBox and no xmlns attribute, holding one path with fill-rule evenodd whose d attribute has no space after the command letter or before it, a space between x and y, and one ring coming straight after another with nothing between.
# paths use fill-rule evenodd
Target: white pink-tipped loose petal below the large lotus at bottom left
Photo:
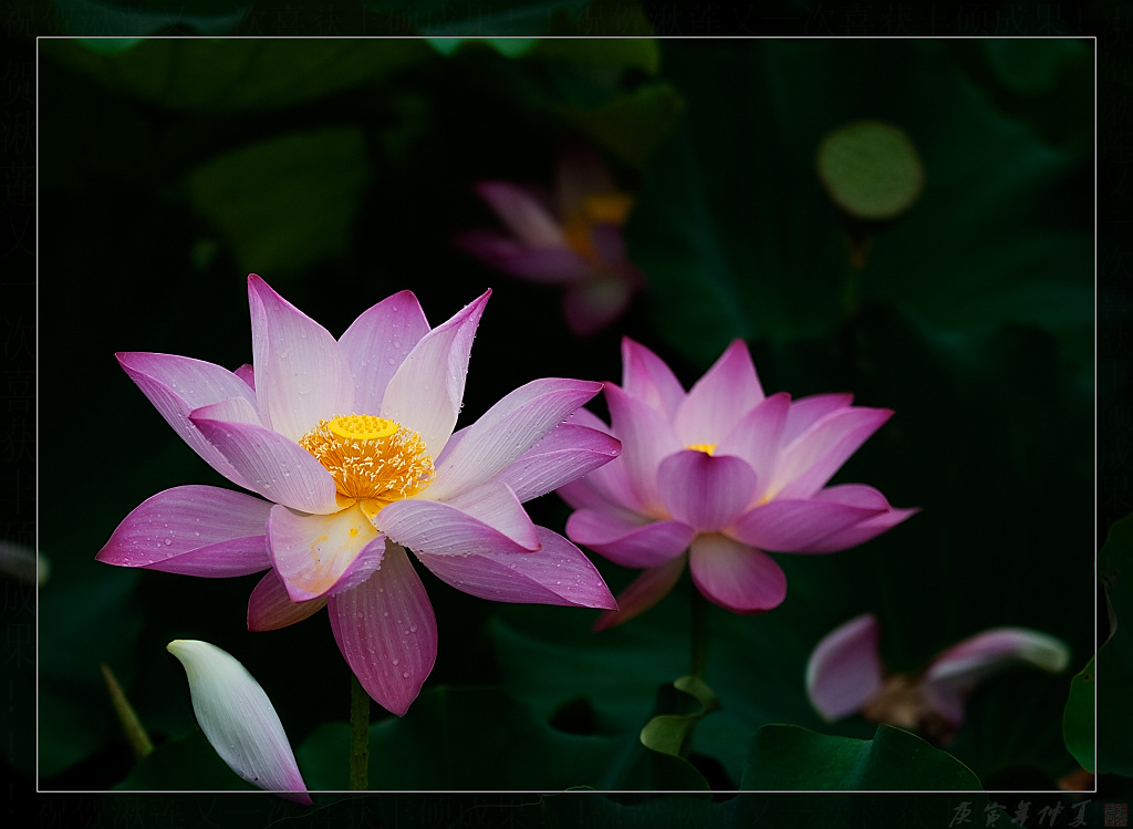
<instances>
[{"instance_id":1,"label":"white pink-tipped loose petal below the large lotus at bottom left","mask_svg":"<svg viewBox=\"0 0 1133 829\"><path fill-rule=\"evenodd\" d=\"M252 674L207 642L179 638L167 650L185 667L193 712L221 760L253 786L309 806L283 725Z\"/></svg>"}]
</instances>

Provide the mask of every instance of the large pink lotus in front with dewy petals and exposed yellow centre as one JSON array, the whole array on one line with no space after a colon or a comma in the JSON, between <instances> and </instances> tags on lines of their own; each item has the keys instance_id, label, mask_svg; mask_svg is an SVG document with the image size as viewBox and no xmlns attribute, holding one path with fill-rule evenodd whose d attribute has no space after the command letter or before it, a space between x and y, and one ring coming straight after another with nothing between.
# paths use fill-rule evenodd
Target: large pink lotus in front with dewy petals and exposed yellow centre
<instances>
[{"instance_id":1,"label":"large pink lotus in front with dewy petals and exposed yellow centre","mask_svg":"<svg viewBox=\"0 0 1133 829\"><path fill-rule=\"evenodd\" d=\"M406 555L466 593L615 607L594 566L521 506L614 457L564 422L599 383L523 386L452 433L488 294L429 329L401 291L335 340L248 278L254 374L168 354L118 359L214 470L261 498L177 487L137 507L100 561L197 576L270 568L248 602L267 631L323 607L342 655L402 714L436 658L433 608Z\"/></svg>"}]
</instances>

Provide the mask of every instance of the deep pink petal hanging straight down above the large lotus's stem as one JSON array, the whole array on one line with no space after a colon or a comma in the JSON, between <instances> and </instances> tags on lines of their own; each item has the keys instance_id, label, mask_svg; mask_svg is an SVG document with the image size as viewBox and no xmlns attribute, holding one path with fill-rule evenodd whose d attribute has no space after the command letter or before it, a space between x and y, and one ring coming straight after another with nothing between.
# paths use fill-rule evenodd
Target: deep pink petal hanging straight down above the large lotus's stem
<instances>
[{"instance_id":1,"label":"deep pink petal hanging straight down above the large lotus's stem","mask_svg":"<svg viewBox=\"0 0 1133 829\"><path fill-rule=\"evenodd\" d=\"M436 618L406 551L386 544L382 568L327 604L334 641L374 700L399 717L436 661Z\"/></svg>"}]
</instances>

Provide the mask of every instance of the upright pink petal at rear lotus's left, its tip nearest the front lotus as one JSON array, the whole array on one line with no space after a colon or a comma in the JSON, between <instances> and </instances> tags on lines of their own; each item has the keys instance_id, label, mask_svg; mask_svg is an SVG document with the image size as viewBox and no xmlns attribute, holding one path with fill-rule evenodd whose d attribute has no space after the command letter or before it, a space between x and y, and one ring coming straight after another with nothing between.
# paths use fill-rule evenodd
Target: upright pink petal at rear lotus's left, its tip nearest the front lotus
<instances>
[{"instance_id":1,"label":"upright pink petal at rear lotus's left, its tip nearest the front lotus","mask_svg":"<svg viewBox=\"0 0 1133 829\"><path fill-rule=\"evenodd\" d=\"M613 423L611 431L622 441L620 458L625 465L634 506L647 515L667 517L657 489L657 467L684 446L676 439L665 415L653 406L630 397L613 383L606 383L604 390Z\"/></svg>"}]
</instances>

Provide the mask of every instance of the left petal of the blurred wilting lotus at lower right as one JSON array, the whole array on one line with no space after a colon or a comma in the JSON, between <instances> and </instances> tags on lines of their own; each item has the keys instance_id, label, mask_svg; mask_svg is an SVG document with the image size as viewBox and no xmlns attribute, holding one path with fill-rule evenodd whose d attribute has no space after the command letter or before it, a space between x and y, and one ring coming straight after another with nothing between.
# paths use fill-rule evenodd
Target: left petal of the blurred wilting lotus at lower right
<instances>
[{"instance_id":1,"label":"left petal of the blurred wilting lotus at lower right","mask_svg":"<svg viewBox=\"0 0 1133 829\"><path fill-rule=\"evenodd\" d=\"M807 662L807 695L828 722L860 710L881 690L884 675L872 614L859 616L823 637Z\"/></svg>"}]
</instances>

